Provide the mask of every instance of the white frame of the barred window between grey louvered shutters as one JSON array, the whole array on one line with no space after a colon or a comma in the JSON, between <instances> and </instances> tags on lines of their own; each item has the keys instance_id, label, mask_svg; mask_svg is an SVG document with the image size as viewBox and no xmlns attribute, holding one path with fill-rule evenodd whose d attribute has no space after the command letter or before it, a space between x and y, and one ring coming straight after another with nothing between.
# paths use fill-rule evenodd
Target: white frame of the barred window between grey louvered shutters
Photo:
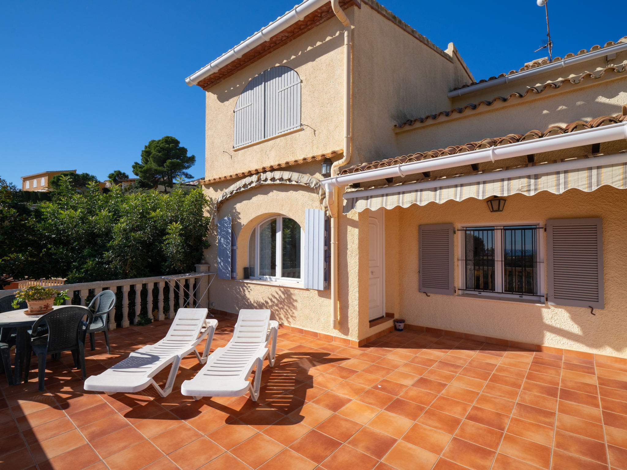
<instances>
[{"instance_id":1,"label":"white frame of the barred window between grey louvered shutters","mask_svg":"<svg viewBox=\"0 0 627 470\"><path fill-rule=\"evenodd\" d=\"M537 263L537 288L535 294L509 294L503 293L503 261L495 263L495 291L477 291L477 290L465 290L466 286L466 261L465 261L465 229L493 227L495 230L503 229L503 227L516 227L516 226L535 226L537 227L535 243L536 246L536 263ZM545 303L545 279L544 279L544 222L542 221L515 221L515 222L497 222L492 224L458 224L458 272L459 272L459 285L457 295L474 295L480 297L502 298L503 300L535 300L539 303ZM500 232L502 233L502 232ZM503 240L502 236L494 237L494 249L495 253L500 253L498 256L503 258ZM498 292L500 291L500 292Z\"/></svg>"}]
</instances>

